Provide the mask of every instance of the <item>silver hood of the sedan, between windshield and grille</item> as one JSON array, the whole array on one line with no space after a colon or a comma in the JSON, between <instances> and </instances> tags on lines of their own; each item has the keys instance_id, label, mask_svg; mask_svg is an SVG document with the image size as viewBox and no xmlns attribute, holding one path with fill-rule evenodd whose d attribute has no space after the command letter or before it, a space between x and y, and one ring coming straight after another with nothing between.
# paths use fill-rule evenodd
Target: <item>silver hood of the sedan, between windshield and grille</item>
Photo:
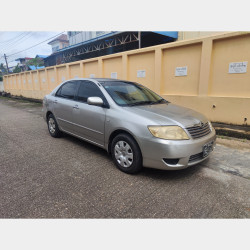
<instances>
[{"instance_id":1,"label":"silver hood of the sedan, between windshield and grille","mask_svg":"<svg viewBox=\"0 0 250 250\"><path fill-rule=\"evenodd\" d=\"M134 106L127 107L126 109L130 109L133 113L150 119L159 125L190 127L200 122L207 122L207 118L204 115L172 103Z\"/></svg>"}]
</instances>

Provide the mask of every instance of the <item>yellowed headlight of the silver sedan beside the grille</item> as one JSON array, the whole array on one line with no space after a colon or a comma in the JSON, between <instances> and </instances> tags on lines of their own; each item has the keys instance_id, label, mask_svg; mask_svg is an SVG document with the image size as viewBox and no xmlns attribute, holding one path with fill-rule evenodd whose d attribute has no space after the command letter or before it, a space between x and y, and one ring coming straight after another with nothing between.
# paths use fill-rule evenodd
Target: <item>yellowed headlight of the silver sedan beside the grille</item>
<instances>
[{"instance_id":1,"label":"yellowed headlight of the silver sedan beside the grille","mask_svg":"<svg viewBox=\"0 0 250 250\"><path fill-rule=\"evenodd\" d=\"M187 133L179 126L148 126L151 134L165 140L189 140Z\"/></svg>"}]
</instances>

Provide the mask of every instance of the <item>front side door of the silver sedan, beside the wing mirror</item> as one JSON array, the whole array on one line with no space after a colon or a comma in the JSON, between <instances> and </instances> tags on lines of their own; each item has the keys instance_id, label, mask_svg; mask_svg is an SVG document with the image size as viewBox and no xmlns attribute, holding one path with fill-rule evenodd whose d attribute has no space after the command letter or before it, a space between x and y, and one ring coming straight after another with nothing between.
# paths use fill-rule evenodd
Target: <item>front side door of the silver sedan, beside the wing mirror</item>
<instances>
[{"instance_id":1,"label":"front side door of the silver sedan, beside the wing mirror","mask_svg":"<svg viewBox=\"0 0 250 250\"><path fill-rule=\"evenodd\" d=\"M107 107L107 100L99 87L91 81L79 80L76 96L78 107L73 110L73 119L78 136L99 146L104 146L106 107L89 105L88 97L100 97Z\"/></svg>"}]
</instances>

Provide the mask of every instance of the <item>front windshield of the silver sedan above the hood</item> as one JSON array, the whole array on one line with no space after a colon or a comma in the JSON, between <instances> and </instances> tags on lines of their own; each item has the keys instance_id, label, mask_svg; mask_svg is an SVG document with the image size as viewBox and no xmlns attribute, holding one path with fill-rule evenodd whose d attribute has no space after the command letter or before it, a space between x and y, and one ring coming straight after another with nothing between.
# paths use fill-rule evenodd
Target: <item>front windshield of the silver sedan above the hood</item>
<instances>
[{"instance_id":1,"label":"front windshield of the silver sedan above the hood","mask_svg":"<svg viewBox=\"0 0 250 250\"><path fill-rule=\"evenodd\" d=\"M165 99L138 83L124 81L105 81L100 83L120 106L168 103Z\"/></svg>"}]
</instances>

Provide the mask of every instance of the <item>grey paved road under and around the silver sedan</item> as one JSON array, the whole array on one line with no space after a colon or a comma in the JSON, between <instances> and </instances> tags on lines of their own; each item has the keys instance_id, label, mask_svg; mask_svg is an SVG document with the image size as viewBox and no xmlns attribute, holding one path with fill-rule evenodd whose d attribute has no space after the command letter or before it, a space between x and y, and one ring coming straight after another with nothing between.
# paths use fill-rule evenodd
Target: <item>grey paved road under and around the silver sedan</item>
<instances>
[{"instance_id":1,"label":"grey paved road under and around the silver sedan","mask_svg":"<svg viewBox=\"0 0 250 250\"><path fill-rule=\"evenodd\" d=\"M250 218L250 148L228 144L189 169L126 175L50 137L40 104L0 98L0 218Z\"/></svg>"}]
</instances>

